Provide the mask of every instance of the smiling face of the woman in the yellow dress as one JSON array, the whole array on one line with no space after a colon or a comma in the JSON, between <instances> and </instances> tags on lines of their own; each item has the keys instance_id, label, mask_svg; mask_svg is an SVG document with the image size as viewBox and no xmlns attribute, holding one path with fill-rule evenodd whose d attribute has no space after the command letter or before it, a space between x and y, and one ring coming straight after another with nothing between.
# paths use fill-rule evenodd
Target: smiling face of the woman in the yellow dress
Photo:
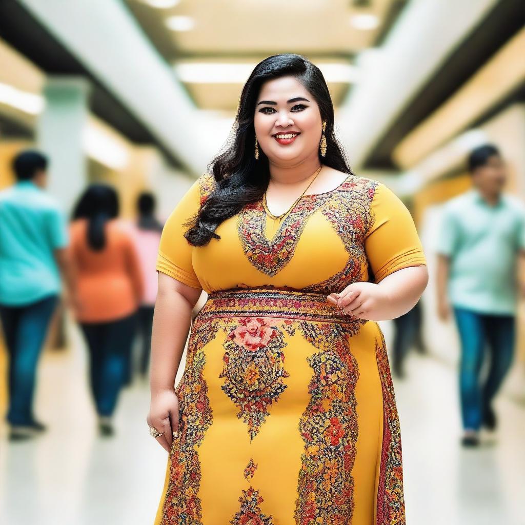
<instances>
[{"instance_id":1,"label":"smiling face of the woman in the yellow dress","mask_svg":"<svg viewBox=\"0 0 525 525\"><path fill-rule=\"evenodd\" d=\"M322 133L319 106L295 77L276 78L261 86L254 127L259 148L270 162L295 164L318 154ZM297 137L278 138L291 132Z\"/></svg>"}]
</instances>

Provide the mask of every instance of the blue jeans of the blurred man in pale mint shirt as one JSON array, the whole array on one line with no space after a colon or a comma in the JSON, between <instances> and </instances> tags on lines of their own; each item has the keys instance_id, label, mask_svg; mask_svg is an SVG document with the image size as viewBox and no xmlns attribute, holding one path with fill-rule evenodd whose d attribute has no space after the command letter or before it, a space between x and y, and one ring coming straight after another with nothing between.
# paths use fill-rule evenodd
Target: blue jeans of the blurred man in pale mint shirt
<instances>
[{"instance_id":1,"label":"blue jeans of the blurred man in pale mint shirt","mask_svg":"<svg viewBox=\"0 0 525 525\"><path fill-rule=\"evenodd\" d=\"M463 427L479 430L484 411L490 407L512 364L516 318L511 315L478 313L453 307L461 341L459 390ZM490 366L485 384L480 371L485 346L490 351Z\"/></svg>"}]
</instances>

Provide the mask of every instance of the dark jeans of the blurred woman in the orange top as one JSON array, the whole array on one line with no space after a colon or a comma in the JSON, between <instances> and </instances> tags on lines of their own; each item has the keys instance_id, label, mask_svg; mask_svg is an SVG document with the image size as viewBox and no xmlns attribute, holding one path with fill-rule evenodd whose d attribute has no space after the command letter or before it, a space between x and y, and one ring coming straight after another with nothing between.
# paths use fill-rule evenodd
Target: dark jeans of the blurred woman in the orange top
<instances>
[{"instance_id":1,"label":"dark jeans of the blurred woman in the orange top","mask_svg":"<svg viewBox=\"0 0 525 525\"><path fill-rule=\"evenodd\" d=\"M90 354L90 386L97 413L111 416L125 383L136 314L103 323L81 323Z\"/></svg>"}]
</instances>

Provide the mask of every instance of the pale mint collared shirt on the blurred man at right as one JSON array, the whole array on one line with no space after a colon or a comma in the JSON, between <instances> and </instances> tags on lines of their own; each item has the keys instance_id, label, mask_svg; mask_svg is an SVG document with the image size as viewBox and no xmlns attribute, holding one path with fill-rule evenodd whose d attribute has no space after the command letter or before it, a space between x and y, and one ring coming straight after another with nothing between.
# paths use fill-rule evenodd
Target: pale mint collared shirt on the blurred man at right
<instances>
[{"instance_id":1,"label":"pale mint collared shirt on the blurred man at right","mask_svg":"<svg viewBox=\"0 0 525 525\"><path fill-rule=\"evenodd\" d=\"M516 314L518 252L525 250L525 204L502 193L495 205L476 187L443 206L437 253L450 257L451 304L480 313Z\"/></svg>"}]
</instances>

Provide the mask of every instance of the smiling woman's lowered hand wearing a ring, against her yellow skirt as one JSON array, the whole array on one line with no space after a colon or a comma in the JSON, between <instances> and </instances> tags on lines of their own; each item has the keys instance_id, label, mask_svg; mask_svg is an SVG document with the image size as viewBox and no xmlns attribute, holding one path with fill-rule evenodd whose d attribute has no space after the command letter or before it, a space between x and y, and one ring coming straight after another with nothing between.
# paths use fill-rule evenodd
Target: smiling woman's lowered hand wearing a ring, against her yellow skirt
<instances>
[{"instance_id":1,"label":"smiling woman's lowered hand wearing a ring, against her yellow skirt","mask_svg":"<svg viewBox=\"0 0 525 525\"><path fill-rule=\"evenodd\" d=\"M178 438L178 398L174 390L152 394L146 423L163 432L155 439L170 452L173 439Z\"/></svg>"}]
</instances>

